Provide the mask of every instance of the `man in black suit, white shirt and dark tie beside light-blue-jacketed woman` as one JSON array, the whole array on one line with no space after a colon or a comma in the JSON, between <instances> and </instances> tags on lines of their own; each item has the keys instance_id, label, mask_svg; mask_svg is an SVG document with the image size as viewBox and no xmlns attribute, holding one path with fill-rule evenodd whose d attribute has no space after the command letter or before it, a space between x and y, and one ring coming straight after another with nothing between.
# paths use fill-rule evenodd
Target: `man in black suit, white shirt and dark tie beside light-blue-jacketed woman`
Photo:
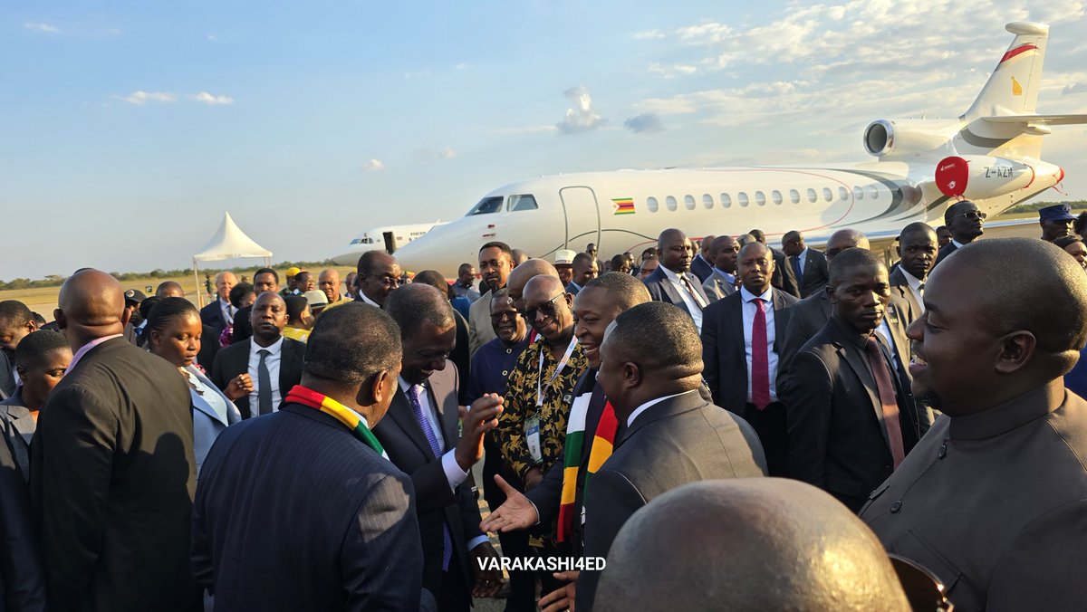
<instances>
[{"instance_id":1,"label":"man in black suit, white shirt and dark tie beside light-blue-jacketed woman","mask_svg":"<svg viewBox=\"0 0 1087 612\"><path fill-rule=\"evenodd\" d=\"M303 342L283 335L287 303L275 291L257 297L250 326L251 338L234 342L215 354L210 376L238 407L242 419L279 409L287 391L302 378L305 353Z\"/></svg>"}]
</instances>

